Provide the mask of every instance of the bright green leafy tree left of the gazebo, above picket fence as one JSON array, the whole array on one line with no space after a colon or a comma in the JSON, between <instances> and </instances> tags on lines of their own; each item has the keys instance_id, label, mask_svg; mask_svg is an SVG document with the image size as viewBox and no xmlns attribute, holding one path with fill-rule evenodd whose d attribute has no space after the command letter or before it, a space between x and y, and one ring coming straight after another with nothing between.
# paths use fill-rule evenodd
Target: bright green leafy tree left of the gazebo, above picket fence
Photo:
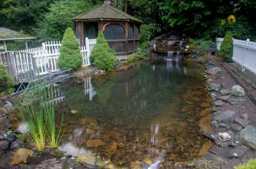
<instances>
[{"instance_id":1,"label":"bright green leafy tree left of the gazebo, above picket fence","mask_svg":"<svg viewBox=\"0 0 256 169\"><path fill-rule=\"evenodd\" d=\"M89 0L56 1L49 12L38 19L34 30L41 40L60 40L68 27L73 27L72 18L93 7Z\"/></svg>"}]
</instances>

